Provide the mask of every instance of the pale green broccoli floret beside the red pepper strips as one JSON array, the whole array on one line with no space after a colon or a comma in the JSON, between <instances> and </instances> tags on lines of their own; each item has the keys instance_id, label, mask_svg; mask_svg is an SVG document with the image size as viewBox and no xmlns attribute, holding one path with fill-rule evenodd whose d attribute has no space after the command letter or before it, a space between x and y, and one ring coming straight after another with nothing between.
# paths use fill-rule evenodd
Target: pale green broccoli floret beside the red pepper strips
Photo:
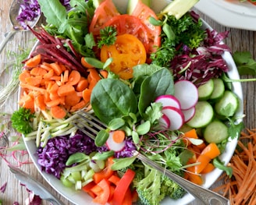
<instances>
[{"instance_id":1,"label":"pale green broccoli floret beside the red pepper strips","mask_svg":"<svg viewBox=\"0 0 256 205\"><path fill-rule=\"evenodd\" d=\"M147 168L147 166L145 166L145 168ZM164 198L160 193L162 174L155 169L147 170L145 173L148 175L145 175L136 186L139 196L138 204L158 205Z\"/></svg>"}]
</instances>

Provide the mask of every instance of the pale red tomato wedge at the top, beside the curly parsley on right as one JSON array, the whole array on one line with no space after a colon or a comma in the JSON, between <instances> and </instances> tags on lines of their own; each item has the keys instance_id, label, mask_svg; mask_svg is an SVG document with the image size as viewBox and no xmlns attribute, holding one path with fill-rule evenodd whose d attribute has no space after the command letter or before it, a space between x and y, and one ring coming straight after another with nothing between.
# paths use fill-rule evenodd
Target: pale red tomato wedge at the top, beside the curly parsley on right
<instances>
[{"instance_id":1,"label":"pale red tomato wedge at the top, beside the curly parsley on right","mask_svg":"<svg viewBox=\"0 0 256 205\"><path fill-rule=\"evenodd\" d=\"M142 23L148 28L148 41L149 41L149 53L155 52L156 48L161 45L161 27L155 27L149 22L149 17L152 16L155 19L158 17L155 15L155 12L148 7L148 5L144 5L141 1L138 1L135 9L132 13L133 16L137 16L141 20Z\"/></svg>"}]
</instances>

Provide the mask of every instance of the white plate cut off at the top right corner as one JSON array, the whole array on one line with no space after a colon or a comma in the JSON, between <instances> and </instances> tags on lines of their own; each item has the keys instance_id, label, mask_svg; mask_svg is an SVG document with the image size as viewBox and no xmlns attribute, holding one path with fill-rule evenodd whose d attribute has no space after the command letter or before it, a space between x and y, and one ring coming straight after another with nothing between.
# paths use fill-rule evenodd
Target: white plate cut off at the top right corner
<instances>
[{"instance_id":1,"label":"white plate cut off at the top right corner","mask_svg":"<svg viewBox=\"0 0 256 205\"><path fill-rule=\"evenodd\" d=\"M200 0L200 12L226 27L256 30L256 5L239 0Z\"/></svg>"}]
</instances>

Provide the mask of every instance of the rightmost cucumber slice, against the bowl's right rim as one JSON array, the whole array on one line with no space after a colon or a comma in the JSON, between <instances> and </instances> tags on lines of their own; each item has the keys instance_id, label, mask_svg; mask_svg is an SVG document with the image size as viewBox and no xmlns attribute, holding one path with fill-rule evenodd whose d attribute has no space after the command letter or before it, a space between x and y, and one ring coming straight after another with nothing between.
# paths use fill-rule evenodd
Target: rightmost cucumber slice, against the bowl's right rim
<instances>
[{"instance_id":1,"label":"rightmost cucumber slice, against the bowl's right rim","mask_svg":"<svg viewBox=\"0 0 256 205\"><path fill-rule=\"evenodd\" d=\"M233 92L226 90L219 101L215 103L217 114L230 117L236 113L239 106L238 97Z\"/></svg>"}]
</instances>

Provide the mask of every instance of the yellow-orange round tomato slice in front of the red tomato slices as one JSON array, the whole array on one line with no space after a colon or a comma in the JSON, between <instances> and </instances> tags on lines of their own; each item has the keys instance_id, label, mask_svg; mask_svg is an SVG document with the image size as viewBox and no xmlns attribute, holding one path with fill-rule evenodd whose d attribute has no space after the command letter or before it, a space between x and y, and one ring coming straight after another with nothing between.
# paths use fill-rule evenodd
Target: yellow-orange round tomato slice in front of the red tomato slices
<instances>
[{"instance_id":1,"label":"yellow-orange round tomato slice in front of the red tomato slices","mask_svg":"<svg viewBox=\"0 0 256 205\"><path fill-rule=\"evenodd\" d=\"M123 80L128 80L133 77L133 66L146 62L147 54L137 37L123 34L116 37L115 44L101 48L101 62L108 58L113 58L110 70Z\"/></svg>"}]
</instances>

